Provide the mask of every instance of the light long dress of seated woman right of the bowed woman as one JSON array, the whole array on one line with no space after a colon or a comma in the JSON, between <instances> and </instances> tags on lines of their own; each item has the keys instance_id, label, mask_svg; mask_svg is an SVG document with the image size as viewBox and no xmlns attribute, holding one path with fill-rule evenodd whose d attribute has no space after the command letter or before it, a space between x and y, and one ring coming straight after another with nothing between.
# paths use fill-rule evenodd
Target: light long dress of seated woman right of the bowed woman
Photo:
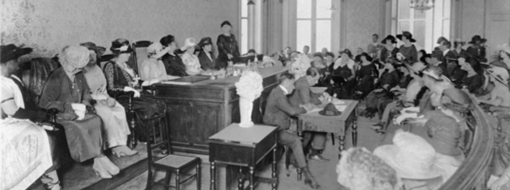
<instances>
[{"instance_id":1,"label":"light long dress of seated woman right of the bowed woman","mask_svg":"<svg viewBox=\"0 0 510 190\"><path fill-rule=\"evenodd\" d=\"M92 68L85 67L85 79L93 95L111 98L106 90L105 75L97 65L94 65ZM96 99L94 108L105 124L104 149L126 145L127 135L131 134L131 132L127 124L124 107L117 101L110 107L106 99Z\"/></svg>"}]
</instances>

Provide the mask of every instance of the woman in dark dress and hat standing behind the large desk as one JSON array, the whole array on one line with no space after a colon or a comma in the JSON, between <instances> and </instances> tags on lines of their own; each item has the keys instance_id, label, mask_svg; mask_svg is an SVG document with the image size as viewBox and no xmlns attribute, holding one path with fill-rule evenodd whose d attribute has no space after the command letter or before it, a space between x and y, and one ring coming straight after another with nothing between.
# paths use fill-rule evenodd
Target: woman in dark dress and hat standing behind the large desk
<instances>
[{"instance_id":1,"label":"woman in dark dress and hat standing behind the large desk","mask_svg":"<svg viewBox=\"0 0 510 190\"><path fill-rule=\"evenodd\" d=\"M223 34L218 36L216 45L218 46L218 59L217 66L226 68L228 61L234 61L239 58L239 47L237 46L237 40L232 31L232 24L229 21L221 22L221 31Z\"/></svg>"}]
</instances>

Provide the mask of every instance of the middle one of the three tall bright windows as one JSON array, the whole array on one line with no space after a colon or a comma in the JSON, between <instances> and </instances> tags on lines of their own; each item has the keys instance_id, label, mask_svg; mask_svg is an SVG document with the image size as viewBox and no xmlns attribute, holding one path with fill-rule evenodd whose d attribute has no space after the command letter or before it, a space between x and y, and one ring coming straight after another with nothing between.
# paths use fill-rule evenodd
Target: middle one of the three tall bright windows
<instances>
[{"instance_id":1,"label":"middle one of the three tall bright windows","mask_svg":"<svg viewBox=\"0 0 510 190\"><path fill-rule=\"evenodd\" d=\"M297 50L331 49L331 0L297 0Z\"/></svg>"}]
</instances>

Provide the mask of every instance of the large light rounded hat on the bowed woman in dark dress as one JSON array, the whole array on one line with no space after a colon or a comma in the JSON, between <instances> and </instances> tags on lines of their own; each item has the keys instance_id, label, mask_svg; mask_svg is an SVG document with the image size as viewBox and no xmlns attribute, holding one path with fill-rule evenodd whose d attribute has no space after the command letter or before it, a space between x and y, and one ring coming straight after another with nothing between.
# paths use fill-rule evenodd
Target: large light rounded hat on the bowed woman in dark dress
<instances>
[{"instance_id":1,"label":"large light rounded hat on the bowed woman in dark dress","mask_svg":"<svg viewBox=\"0 0 510 190\"><path fill-rule=\"evenodd\" d=\"M89 63L89 55L89 49L84 46L66 46L59 54L59 61L62 65L71 64L75 68L83 68Z\"/></svg>"}]
</instances>

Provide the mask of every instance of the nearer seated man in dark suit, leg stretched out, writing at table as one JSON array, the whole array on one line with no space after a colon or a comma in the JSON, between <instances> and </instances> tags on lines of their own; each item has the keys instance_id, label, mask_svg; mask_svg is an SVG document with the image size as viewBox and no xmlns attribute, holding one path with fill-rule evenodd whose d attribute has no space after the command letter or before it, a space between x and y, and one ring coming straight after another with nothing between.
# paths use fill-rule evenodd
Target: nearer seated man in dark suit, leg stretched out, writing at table
<instances>
[{"instance_id":1,"label":"nearer seated man in dark suit, leg stretched out, writing at table","mask_svg":"<svg viewBox=\"0 0 510 190\"><path fill-rule=\"evenodd\" d=\"M319 188L319 184L310 173L307 167L307 161L304 159L301 140L296 134L288 132L286 129L290 126L290 116L306 113L311 110L310 104L304 106L292 106L286 95L294 90L294 76L290 73L283 73L278 78L278 86L275 87L267 99L266 110L264 113L264 123L277 125L279 134L279 143L288 146L293 151L296 161L296 167L304 172L304 183L312 188Z\"/></svg>"}]
</instances>

